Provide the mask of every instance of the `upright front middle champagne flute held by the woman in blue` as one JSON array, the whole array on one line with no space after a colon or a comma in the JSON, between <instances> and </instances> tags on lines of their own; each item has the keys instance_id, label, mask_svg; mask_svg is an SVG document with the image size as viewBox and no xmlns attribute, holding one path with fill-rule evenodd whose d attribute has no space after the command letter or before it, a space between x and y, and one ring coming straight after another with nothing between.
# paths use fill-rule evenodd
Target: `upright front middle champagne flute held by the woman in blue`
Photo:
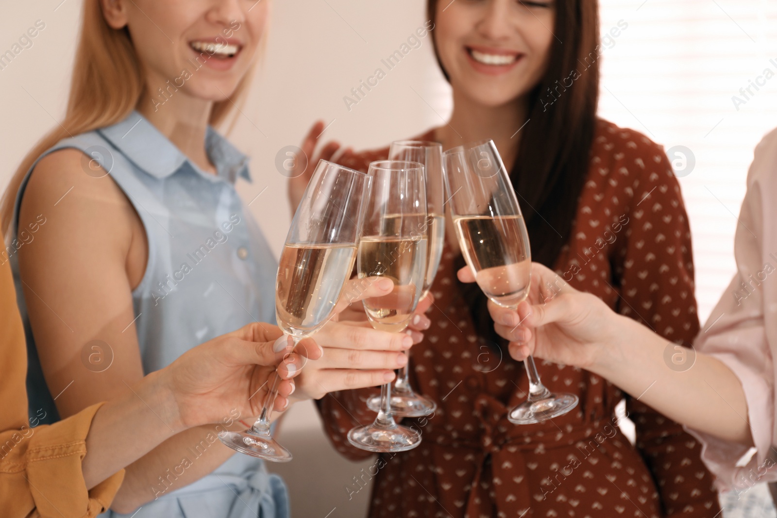
<instances>
[{"instance_id":1,"label":"upright front middle champagne flute held by the woman in blue","mask_svg":"<svg viewBox=\"0 0 777 518\"><path fill-rule=\"evenodd\" d=\"M385 276L390 294L364 299L372 327L402 332L421 297L427 266L427 196L423 165L418 162L372 162L372 179L359 251L359 278ZM398 425L392 416L391 383L381 388L381 406L370 426L357 426L348 440L368 451L405 451L418 446L420 433Z\"/></svg>"}]
</instances>

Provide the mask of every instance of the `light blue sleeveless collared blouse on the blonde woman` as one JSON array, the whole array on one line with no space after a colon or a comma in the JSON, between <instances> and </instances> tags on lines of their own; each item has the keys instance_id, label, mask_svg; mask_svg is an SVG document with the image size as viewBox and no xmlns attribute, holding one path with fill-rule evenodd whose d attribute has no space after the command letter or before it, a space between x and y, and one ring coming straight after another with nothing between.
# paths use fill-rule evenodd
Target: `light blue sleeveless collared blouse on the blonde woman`
<instances>
[{"instance_id":1,"label":"light blue sleeveless collared blouse on the blonde woman","mask_svg":"<svg viewBox=\"0 0 777 518\"><path fill-rule=\"evenodd\" d=\"M205 147L218 170L215 176L198 169L152 123L133 112L113 126L64 139L40 157L58 149L80 149L110 173L141 218L148 264L132 301L145 374L249 322L275 324L277 261L235 192L238 176L250 181L247 158L210 127ZM30 172L16 197L14 231L29 177ZM12 266L28 339L30 415L40 416L42 408L49 416L44 422L53 422L58 416L40 370L16 256ZM158 498L135 514L109 511L100 516L289 516L284 482L268 474L263 461L242 454L185 488L166 492L160 481L156 489L149 492Z\"/></svg>"}]
</instances>

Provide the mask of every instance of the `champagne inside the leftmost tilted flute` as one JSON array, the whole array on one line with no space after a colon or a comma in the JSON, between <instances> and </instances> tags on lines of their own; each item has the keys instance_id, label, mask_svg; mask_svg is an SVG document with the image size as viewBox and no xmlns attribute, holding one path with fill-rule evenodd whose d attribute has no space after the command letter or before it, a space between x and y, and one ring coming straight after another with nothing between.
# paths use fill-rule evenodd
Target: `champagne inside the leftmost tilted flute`
<instances>
[{"instance_id":1,"label":"champagne inside the leftmost tilted flute","mask_svg":"<svg viewBox=\"0 0 777 518\"><path fill-rule=\"evenodd\" d=\"M305 337L335 308L354 268L353 245L286 245L280 255L275 313L280 329Z\"/></svg>"}]
</instances>

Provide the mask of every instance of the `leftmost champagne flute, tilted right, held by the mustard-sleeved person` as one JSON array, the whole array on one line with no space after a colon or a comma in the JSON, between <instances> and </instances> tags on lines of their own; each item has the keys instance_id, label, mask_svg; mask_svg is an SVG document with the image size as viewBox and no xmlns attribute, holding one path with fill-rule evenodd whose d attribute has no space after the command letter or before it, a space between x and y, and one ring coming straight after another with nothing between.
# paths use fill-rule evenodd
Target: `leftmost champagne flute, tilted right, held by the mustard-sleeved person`
<instances>
[{"instance_id":1,"label":"leftmost champagne flute, tilted right, held by the mustard-sleeved person","mask_svg":"<svg viewBox=\"0 0 777 518\"><path fill-rule=\"evenodd\" d=\"M275 315L294 347L326 324L354 268L370 178L326 160L319 161L291 221L275 283ZM233 450L267 461L291 461L273 439L270 412L280 376L254 425L218 438Z\"/></svg>"}]
</instances>

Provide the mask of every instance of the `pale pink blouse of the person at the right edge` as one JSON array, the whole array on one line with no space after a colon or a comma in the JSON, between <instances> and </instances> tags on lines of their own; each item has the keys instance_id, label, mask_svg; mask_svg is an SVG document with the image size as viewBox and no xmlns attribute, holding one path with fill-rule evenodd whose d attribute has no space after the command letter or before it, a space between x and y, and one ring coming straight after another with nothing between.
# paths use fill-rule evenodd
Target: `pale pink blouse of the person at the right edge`
<instances>
[{"instance_id":1,"label":"pale pink blouse of the person at the right edge","mask_svg":"<svg viewBox=\"0 0 777 518\"><path fill-rule=\"evenodd\" d=\"M757 452L737 466L747 447L689 429L702 441L702 460L720 490L777 481L775 364L777 351L777 130L755 148L747 195L734 239L737 274L695 341L739 377ZM742 416L744 418L744 415Z\"/></svg>"}]
</instances>

